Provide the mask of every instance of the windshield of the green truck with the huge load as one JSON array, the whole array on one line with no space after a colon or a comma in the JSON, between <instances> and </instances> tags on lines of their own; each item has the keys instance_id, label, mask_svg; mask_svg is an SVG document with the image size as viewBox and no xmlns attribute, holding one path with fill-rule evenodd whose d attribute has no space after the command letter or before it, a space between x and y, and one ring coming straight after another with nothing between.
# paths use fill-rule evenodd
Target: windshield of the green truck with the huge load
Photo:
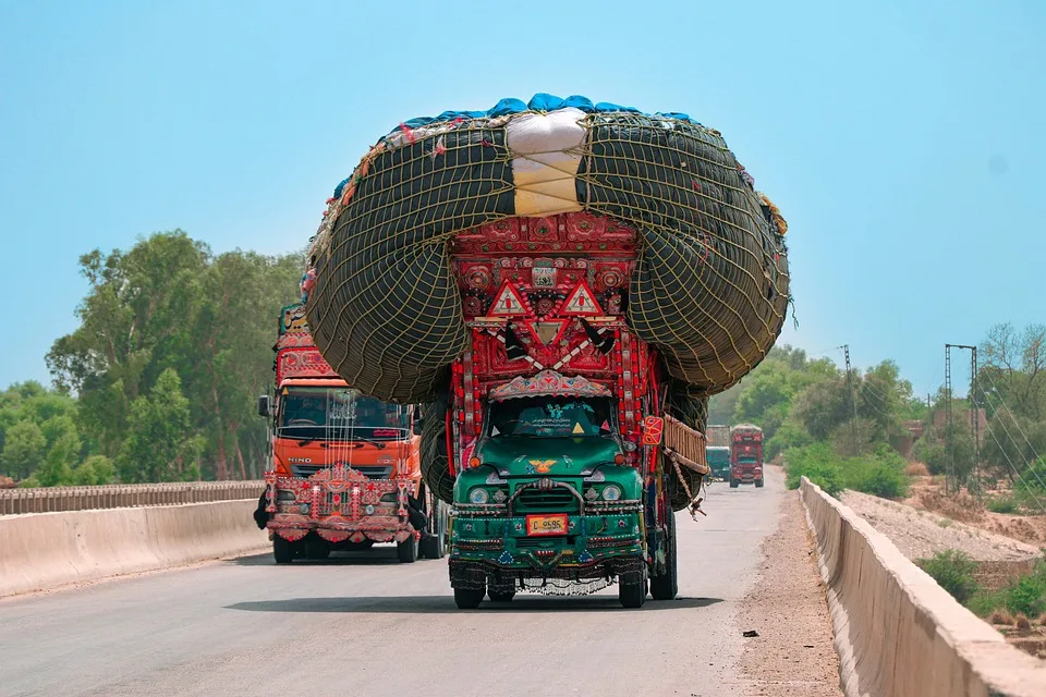
<instances>
[{"instance_id":1,"label":"windshield of the green truck with the huge load","mask_svg":"<svg viewBox=\"0 0 1046 697\"><path fill-rule=\"evenodd\" d=\"M527 396L490 404L491 438L598 438L613 433L610 398Z\"/></svg>"}]
</instances>

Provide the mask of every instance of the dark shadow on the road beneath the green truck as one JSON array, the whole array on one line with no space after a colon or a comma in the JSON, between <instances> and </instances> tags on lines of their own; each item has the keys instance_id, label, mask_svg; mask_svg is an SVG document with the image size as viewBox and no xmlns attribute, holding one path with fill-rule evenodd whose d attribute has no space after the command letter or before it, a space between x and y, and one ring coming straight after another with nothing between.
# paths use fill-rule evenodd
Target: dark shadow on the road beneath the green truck
<instances>
[{"instance_id":1,"label":"dark shadow on the road beneath the green truck","mask_svg":"<svg viewBox=\"0 0 1046 697\"><path fill-rule=\"evenodd\" d=\"M451 596L373 596L361 598L288 598L285 600L256 600L226 606L226 610L246 612L375 612L375 613L430 613L457 614L462 612L656 612L658 610L684 610L707 608L721 598L677 598L676 600L647 600L642 610L625 610L611 596L564 598L548 596L516 596L512 602L486 601L478 610L459 610Z\"/></svg>"}]
</instances>

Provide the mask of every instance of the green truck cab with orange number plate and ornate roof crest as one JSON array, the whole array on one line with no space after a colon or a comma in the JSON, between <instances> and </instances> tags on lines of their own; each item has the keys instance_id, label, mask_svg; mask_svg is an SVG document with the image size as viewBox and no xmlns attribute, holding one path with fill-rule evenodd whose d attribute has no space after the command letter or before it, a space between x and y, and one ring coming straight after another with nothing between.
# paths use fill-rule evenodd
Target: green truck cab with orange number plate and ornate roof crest
<instances>
[{"instance_id":1,"label":"green truck cab with orange number plate and ornate roof crest","mask_svg":"<svg viewBox=\"0 0 1046 697\"><path fill-rule=\"evenodd\" d=\"M562 389L568 382L574 391ZM636 445L617 414L609 389L551 371L491 390L454 486L452 574L487 575L491 600L509 600L528 583L643 568L644 485L625 464ZM455 597L469 595L455 587Z\"/></svg>"}]
</instances>

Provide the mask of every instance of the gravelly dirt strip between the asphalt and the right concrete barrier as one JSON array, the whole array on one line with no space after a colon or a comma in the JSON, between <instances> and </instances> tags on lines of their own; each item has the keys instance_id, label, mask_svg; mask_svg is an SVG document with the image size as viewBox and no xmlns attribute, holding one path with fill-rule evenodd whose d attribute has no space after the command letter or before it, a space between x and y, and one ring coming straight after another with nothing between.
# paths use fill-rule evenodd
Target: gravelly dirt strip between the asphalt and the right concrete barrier
<instances>
[{"instance_id":1,"label":"gravelly dirt strip between the asphalt and the right concrete barrier","mask_svg":"<svg viewBox=\"0 0 1046 697\"><path fill-rule=\"evenodd\" d=\"M814 539L796 491L781 500L780 526L763 543L759 578L739 621L745 640L740 668L752 695L839 697L839 657L817 567Z\"/></svg>"}]
</instances>

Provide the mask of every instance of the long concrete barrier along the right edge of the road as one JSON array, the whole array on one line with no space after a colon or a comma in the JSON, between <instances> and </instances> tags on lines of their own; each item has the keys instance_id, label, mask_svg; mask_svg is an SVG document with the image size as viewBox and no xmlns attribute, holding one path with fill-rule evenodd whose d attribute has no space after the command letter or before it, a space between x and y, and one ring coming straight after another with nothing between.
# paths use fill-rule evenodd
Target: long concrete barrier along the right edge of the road
<instances>
[{"instance_id":1,"label":"long concrete barrier along the right edge of the road","mask_svg":"<svg viewBox=\"0 0 1046 697\"><path fill-rule=\"evenodd\" d=\"M886 536L805 477L848 697L1043 697L1046 662L1006 644Z\"/></svg>"}]
</instances>

